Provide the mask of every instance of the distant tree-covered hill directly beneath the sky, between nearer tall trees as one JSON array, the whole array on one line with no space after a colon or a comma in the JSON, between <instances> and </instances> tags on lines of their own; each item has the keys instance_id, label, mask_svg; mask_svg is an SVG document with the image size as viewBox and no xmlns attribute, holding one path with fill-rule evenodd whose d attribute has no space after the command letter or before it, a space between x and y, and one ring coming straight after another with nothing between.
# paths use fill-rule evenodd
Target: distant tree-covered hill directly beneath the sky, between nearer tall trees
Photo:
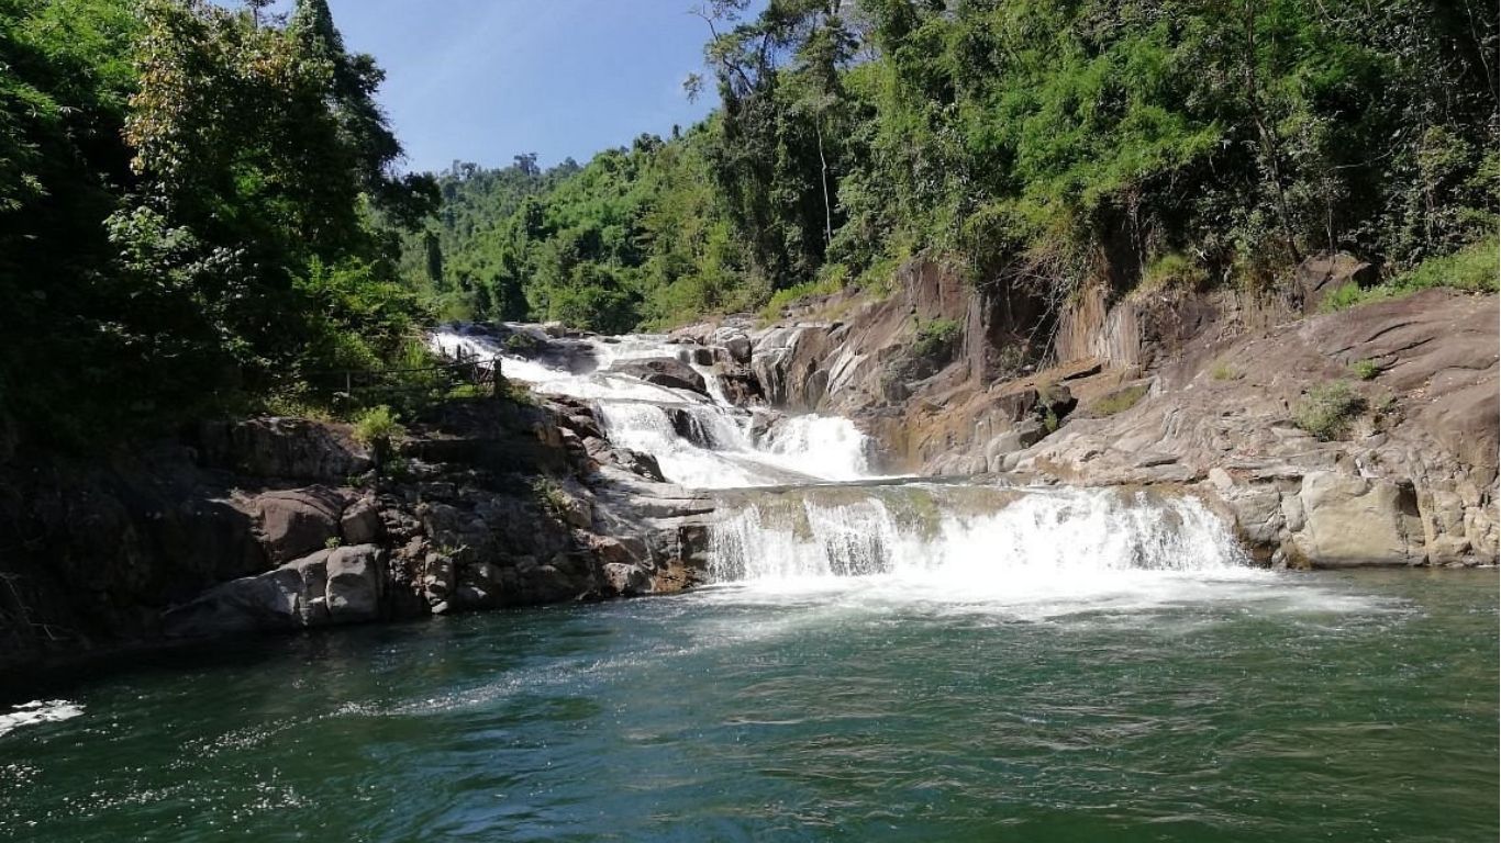
<instances>
[{"instance_id":1,"label":"distant tree-covered hill directly beneath the sky, between nearer tall trees","mask_svg":"<svg viewBox=\"0 0 1501 843\"><path fill-rule=\"evenodd\" d=\"M743 250L717 202L708 129L674 141L641 135L587 166L542 171L534 156L438 177L444 207L408 238L404 276L446 316L561 320L629 330L681 314L746 308ZM437 242L441 278L417 248Z\"/></svg>"}]
</instances>

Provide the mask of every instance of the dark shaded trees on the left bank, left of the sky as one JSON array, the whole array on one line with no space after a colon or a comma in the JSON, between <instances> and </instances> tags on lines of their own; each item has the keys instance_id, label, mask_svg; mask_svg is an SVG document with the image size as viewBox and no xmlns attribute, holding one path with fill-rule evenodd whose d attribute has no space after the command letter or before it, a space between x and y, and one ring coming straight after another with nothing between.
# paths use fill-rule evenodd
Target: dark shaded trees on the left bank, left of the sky
<instances>
[{"instance_id":1,"label":"dark shaded trees on the left bank, left of the sky","mask_svg":"<svg viewBox=\"0 0 1501 843\"><path fill-rule=\"evenodd\" d=\"M399 358L428 177L324 0L0 0L0 454ZM384 222L372 222L372 220Z\"/></svg>"}]
</instances>

